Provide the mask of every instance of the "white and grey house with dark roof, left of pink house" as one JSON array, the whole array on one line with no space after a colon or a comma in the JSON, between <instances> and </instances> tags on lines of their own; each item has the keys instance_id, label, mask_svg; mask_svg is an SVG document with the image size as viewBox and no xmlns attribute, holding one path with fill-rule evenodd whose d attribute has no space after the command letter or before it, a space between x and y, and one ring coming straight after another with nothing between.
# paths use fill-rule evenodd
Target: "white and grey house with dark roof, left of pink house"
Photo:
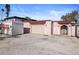
<instances>
[{"instance_id":1,"label":"white and grey house with dark roof, left of pink house","mask_svg":"<svg viewBox=\"0 0 79 59\"><path fill-rule=\"evenodd\" d=\"M24 26L21 17L8 17L4 19L2 33L9 35L23 34Z\"/></svg>"}]
</instances>

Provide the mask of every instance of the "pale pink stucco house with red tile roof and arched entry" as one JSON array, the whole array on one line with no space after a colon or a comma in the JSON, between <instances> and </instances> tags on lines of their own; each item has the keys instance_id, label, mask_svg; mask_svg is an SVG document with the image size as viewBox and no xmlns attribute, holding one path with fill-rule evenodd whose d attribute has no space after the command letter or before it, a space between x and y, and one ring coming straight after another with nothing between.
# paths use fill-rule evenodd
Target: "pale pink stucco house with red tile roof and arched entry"
<instances>
[{"instance_id":1,"label":"pale pink stucco house with red tile roof and arched entry","mask_svg":"<svg viewBox=\"0 0 79 59\"><path fill-rule=\"evenodd\" d=\"M43 35L67 35L75 36L75 21L27 21L24 22L25 28L30 28L30 33ZM77 35L79 36L79 26L77 26Z\"/></svg>"}]
</instances>

